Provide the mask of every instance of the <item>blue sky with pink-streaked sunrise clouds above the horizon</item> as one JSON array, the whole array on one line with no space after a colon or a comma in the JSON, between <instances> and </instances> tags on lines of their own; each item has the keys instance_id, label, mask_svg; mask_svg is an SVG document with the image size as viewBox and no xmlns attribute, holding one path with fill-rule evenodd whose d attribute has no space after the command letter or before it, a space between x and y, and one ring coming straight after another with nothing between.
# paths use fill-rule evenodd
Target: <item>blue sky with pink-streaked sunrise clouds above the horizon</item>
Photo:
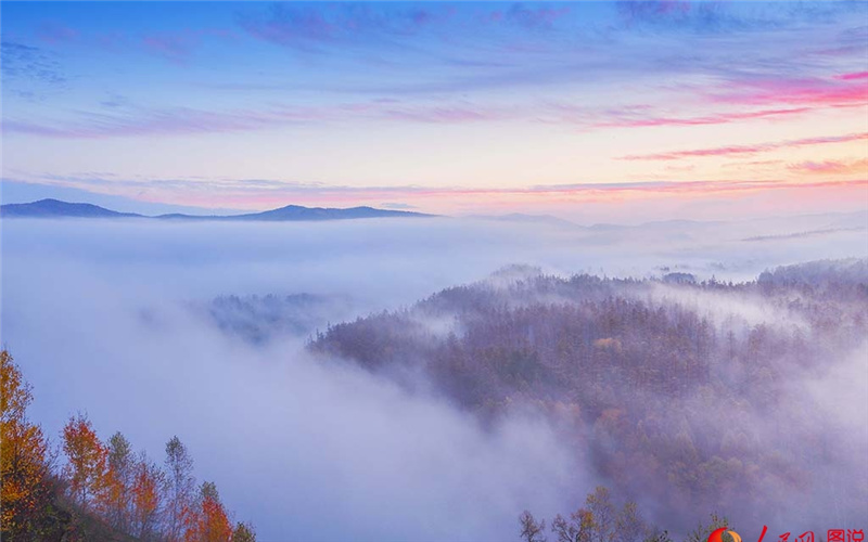
<instances>
[{"instance_id":1,"label":"blue sky with pink-streaked sunrise clouds above the horizon","mask_svg":"<svg viewBox=\"0 0 868 542\"><path fill-rule=\"evenodd\" d=\"M3 2L4 203L868 208L868 3Z\"/></svg>"}]
</instances>

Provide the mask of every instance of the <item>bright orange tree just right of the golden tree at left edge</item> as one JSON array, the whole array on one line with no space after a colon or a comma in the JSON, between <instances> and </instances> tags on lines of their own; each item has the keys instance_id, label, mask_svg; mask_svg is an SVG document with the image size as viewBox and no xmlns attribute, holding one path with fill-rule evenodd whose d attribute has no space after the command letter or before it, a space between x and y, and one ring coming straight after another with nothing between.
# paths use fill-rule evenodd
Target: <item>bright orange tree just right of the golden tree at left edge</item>
<instances>
[{"instance_id":1,"label":"bright orange tree just right of the golden tree at left edge","mask_svg":"<svg viewBox=\"0 0 868 542\"><path fill-rule=\"evenodd\" d=\"M81 509L87 511L93 496L103 489L106 451L87 415L69 417L62 436L69 492Z\"/></svg>"}]
</instances>

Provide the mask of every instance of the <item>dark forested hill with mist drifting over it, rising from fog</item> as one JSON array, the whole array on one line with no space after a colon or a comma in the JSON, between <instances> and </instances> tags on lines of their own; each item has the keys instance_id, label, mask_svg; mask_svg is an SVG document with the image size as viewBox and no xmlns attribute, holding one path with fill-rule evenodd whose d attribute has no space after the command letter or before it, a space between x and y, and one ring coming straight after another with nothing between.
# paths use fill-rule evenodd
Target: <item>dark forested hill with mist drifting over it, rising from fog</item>
<instances>
[{"instance_id":1,"label":"dark forested hill with mist drifting over it, rising from fog","mask_svg":"<svg viewBox=\"0 0 868 542\"><path fill-rule=\"evenodd\" d=\"M433 379L483 420L535 408L615 494L684 529L714 511L864 517L863 435L828 408L830 375L864 374L866 336L868 263L845 260L740 284L507 270L309 348L413 389Z\"/></svg>"}]
</instances>

